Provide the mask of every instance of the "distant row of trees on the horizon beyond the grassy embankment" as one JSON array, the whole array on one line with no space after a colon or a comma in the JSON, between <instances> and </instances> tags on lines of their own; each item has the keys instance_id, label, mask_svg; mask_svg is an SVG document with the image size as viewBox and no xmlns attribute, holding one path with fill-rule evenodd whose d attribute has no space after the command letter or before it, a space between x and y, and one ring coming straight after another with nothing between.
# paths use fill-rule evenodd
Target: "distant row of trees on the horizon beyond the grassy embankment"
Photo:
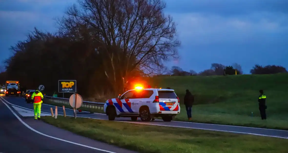
<instances>
[{"instance_id":1,"label":"distant row of trees on the horizon beyond the grassy embankment","mask_svg":"<svg viewBox=\"0 0 288 153\"><path fill-rule=\"evenodd\" d=\"M251 74L276 74L276 73L288 73L286 68L283 66L267 65L260 66L256 64L251 70ZM235 75L243 74L241 65L234 63L232 65L225 66L219 63L212 63L210 69L203 70L199 73L194 70L189 72L184 71L179 66L172 66L171 70L166 73L166 75L172 76L212 76L212 75Z\"/></svg>"}]
</instances>

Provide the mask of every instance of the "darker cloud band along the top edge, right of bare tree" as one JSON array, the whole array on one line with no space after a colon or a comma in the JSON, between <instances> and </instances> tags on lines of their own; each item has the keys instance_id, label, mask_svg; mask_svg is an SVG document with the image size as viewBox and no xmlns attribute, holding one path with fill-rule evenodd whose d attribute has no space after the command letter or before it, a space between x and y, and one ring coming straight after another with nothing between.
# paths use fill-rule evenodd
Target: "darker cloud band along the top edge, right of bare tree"
<instances>
[{"instance_id":1,"label":"darker cloud band along the top edge, right of bare tree","mask_svg":"<svg viewBox=\"0 0 288 153\"><path fill-rule=\"evenodd\" d=\"M174 13L209 13L233 16L253 12L288 13L287 0L166 0L167 9Z\"/></svg>"}]
</instances>

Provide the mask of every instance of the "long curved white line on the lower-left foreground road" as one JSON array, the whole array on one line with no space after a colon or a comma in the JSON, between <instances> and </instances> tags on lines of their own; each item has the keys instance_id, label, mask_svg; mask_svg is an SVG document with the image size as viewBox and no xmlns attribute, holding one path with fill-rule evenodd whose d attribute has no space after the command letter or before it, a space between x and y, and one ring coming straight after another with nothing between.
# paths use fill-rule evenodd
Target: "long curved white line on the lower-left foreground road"
<instances>
[{"instance_id":1,"label":"long curved white line on the lower-left foreground road","mask_svg":"<svg viewBox=\"0 0 288 153\"><path fill-rule=\"evenodd\" d=\"M75 143L75 142L71 142L71 141L67 141L67 140L60 139L60 138L52 137L52 136L49 136L49 135L47 135L47 134L43 134L43 133L41 133L41 132L33 129L32 127L30 127L28 124L26 124L26 123L9 107L9 105L7 105L7 104L4 102L4 101L6 101L6 100L3 99L2 97L0 97L0 98L1 98L0 100L2 101L2 103L4 103L4 104L8 107L8 109L10 109L10 111L13 113L13 115L14 115L23 125L25 125L25 126L26 126L27 128L29 128L30 130L32 130L32 131L34 131L34 132L36 132L36 133L38 133L38 134L41 134L42 136L46 136L46 137L49 137L49 138L52 138L52 139L56 139L56 140L68 142L68 143L75 144L75 145L82 146L82 147L86 147L86 148L91 148L91 149L94 149L94 150L99 150L99 151L109 152L109 153L116 153L116 152L111 152L111 151L108 151L108 150L103 150L103 149L99 149L99 148L94 148L94 147L86 146L86 145L83 145L83 144L78 144L78 143ZM2 99L3 99L4 101L3 101ZM6 101L6 102L8 102L8 101ZM8 102L8 103L9 103L9 102Z\"/></svg>"}]
</instances>

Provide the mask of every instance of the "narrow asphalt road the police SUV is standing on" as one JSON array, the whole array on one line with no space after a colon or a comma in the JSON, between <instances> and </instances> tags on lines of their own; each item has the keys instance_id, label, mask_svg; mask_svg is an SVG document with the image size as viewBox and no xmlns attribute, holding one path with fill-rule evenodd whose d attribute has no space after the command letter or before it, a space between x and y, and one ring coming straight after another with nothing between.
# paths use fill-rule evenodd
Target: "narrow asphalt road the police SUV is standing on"
<instances>
[{"instance_id":1,"label":"narrow asphalt road the police SUV is standing on","mask_svg":"<svg viewBox=\"0 0 288 153\"><path fill-rule=\"evenodd\" d=\"M25 99L21 97L3 97L7 102L12 105L17 105L25 109L33 110L33 104L26 103ZM50 108L55 109L55 107L51 105L43 104L41 108L41 112L50 113ZM58 114L63 114L62 109L58 109ZM66 109L66 114L73 116L73 110ZM104 114L99 113L77 113L78 117L89 117L94 119L105 119L108 120L108 117ZM241 127L241 126L231 126L231 125L215 125L215 124L204 124L204 123L192 123L192 122L181 122L181 121L171 121L164 122L162 120L154 120L151 122L142 122L140 119L138 121L131 121L130 118L116 118L117 121L129 122L129 123L138 123L138 124L149 124L149 125L160 125L160 126L170 126L170 127L182 127L182 128L194 128L194 129L202 129L202 130L215 130L222 132L232 132L238 134L253 134L259 136L270 136L277 138L286 138L288 139L288 131L286 130L272 130L272 129L263 129L263 128L254 128L254 127Z\"/></svg>"}]
</instances>

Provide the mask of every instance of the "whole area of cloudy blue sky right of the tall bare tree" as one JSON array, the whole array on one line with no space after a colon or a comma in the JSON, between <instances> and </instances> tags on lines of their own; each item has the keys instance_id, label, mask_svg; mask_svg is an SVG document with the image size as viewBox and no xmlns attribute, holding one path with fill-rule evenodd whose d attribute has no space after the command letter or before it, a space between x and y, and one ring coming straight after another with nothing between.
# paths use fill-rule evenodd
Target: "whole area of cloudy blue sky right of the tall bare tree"
<instances>
[{"instance_id":1,"label":"whole area of cloudy blue sky right of the tall bare tree","mask_svg":"<svg viewBox=\"0 0 288 153\"><path fill-rule=\"evenodd\" d=\"M246 73L254 64L288 68L287 0L166 0L177 23L184 70L202 71L213 62L238 62ZM261 55L261 56L259 56ZM265 58L266 60L263 60Z\"/></svg>"}]
</instances>

